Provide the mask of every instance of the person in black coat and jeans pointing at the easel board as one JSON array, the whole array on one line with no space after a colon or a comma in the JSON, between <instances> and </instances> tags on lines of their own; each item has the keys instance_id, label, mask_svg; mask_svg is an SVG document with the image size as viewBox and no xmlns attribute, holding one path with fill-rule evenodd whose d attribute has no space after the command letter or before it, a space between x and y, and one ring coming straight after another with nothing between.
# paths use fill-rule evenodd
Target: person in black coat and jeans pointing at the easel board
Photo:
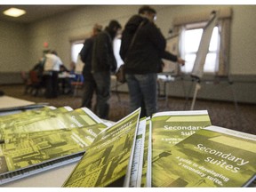
<instances>
[{"instance_id":1,"label":"person in black coat and jeans pointing at the easel board","mask_svg":"<svg viewBox=\"0 0 256 192\"><path fill-rule=\"evenodd\" d=\"M151 116L157 111L156 80L157 72L163 64L161 59L184 64L184 60L171 52L165 52L165 38L154 20L156 10L150 6L142 6L139 14L128 20L122 34L120 56L124 60L130 108L133 111L141 107L140 117Z\"/></svg>"}]
</instances>

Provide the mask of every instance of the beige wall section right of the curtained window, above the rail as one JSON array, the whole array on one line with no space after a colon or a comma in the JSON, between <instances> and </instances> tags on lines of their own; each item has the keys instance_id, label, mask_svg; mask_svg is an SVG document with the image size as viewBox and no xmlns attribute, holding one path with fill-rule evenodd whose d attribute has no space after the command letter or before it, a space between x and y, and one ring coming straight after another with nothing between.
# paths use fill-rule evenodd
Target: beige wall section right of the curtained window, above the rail
<instances>
[{"instance_id":1,"label":"beige wall section right of the curtained window, above the rail","mask_svg":"<svg viewBox=\"0 0 256 192\"><path fill-rule=\"evenodd\" d=\"M233 75L256 74L256 5L234 6L231 28L230 72Z\"/></svg>"}]
</instances>

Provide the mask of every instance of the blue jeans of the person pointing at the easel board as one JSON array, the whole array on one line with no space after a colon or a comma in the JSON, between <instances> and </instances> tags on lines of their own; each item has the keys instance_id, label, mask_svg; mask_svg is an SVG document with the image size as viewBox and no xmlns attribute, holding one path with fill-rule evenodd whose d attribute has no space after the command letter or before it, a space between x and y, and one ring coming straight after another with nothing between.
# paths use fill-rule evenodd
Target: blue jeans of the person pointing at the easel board
<instances>
[{"instance_id":1,"label":"blue jeans of the person pointing at the easel board","mask_svg":"<svg viewBox=\"0 0 256 192\"><path fill-rule=\"evenodd\" d=\"M130 94L131 112L141 107L140 117L151 116L157 111L157 75L155 73L126 74Z\"/></svg>"}]
</instances>

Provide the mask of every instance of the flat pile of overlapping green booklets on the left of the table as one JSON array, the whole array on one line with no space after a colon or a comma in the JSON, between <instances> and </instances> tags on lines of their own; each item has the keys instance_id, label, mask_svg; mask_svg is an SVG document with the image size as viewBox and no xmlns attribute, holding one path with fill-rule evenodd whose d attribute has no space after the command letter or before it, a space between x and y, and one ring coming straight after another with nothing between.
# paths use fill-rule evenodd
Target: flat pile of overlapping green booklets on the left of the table
<instances>
[{"instance_id":1,"label":"flat pile of overlapping green booklets on the left of the table","mask_svg":"<svg viewBox=\"0 0 256 192\"><path fill-rule=\"evenodd\" d=\"M88 108L0 116L0 184L78 161L108 125Z\"/></svg>"}]
</instances>

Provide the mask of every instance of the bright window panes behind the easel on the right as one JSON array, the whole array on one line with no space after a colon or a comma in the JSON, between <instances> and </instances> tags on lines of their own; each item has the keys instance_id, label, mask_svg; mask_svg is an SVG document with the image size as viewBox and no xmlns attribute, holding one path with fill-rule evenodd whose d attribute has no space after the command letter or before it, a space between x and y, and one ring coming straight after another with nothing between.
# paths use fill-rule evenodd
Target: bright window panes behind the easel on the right
<instances>
[{"instance_id":1,"label":"bright window panes behind the easel on the right","mask_svg":"<svg viewBox=\"0 0 256 192\"><path fill-rule=\"evenodd\" d=\"M213 28L212 38L209 46L209 52L206 56L204 64L204 73L214 74L218 70L218 52L219 51L219 41L220 36L218 32L218 27ZM181 68L181 71L184 73L191 73L194 63L196 60L196 52L198 50L201 36L203 34L203 28L186 28L184 30L184 35L181 41L183 58L186 60L186 64Z\"/></svg>"}]
</instances>

